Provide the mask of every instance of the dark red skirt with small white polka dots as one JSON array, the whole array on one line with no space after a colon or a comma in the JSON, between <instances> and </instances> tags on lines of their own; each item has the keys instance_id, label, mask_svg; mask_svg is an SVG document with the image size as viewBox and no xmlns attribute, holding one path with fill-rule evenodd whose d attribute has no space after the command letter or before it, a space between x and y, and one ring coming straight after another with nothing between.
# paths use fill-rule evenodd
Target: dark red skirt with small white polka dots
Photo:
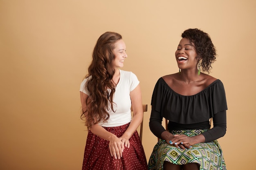
<instances>
[{"instance_id":1,"label":"dark red skirt with small white polka dots","mask_svg":"<svg viewBox=\"0 0 256 170\"><path fill-rule=\"evenodd\" d=\"M109 132L121 137L129 124L118 127L104 127ZM85 145L82 170L147 170L144 149L137 131L130 137L130 148L125 148L123 157L111 157L109 141L94 135L90 130Z\"/></svg>"}]
</instances>

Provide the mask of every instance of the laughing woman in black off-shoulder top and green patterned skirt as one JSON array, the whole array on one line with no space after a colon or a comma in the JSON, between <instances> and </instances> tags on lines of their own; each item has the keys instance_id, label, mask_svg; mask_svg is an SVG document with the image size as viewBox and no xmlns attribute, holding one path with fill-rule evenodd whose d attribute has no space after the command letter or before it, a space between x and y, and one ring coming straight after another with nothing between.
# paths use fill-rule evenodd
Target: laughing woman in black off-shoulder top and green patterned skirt
<instances>
[{"instance_id":1,"label":"laughing woman in black off-shoulder top and green patterned skirt","mask_svg":"<svg viewBox=\"0 0 256 170\"><path fill-rule=\"evenodd\" d=\"M157 81L150 130L159 141L149 170L226 170L216 139L226 133L227 102L222 82L209 73L216 49L207 33L188 29L175 52L179 72ZM168 129L162 119L168 119ZM213 128L210 119L213 118Z\"/></svg>"}]
</instances>

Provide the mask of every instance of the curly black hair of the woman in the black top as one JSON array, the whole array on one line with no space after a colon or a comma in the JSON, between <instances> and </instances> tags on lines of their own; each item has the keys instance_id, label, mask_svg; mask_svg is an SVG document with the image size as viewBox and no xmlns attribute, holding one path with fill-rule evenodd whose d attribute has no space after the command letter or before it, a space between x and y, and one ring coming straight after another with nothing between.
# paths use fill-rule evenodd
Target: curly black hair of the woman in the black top
<instances>
[{"instance_id":1,"label":"curly black hair of the woman in the black top","mask_svg":"<svg viewBox=\"0 0 256 170\"><path fill-rule=\"evenodd\" d=\"M211 64L216 61L216 48L211 42L210 36L200 29L187 29L181 36L189 39L193 44L198 54L198 60L202 60L200 63L202 71L209 73L212 68Z\"/></svg>"}]
</instances>

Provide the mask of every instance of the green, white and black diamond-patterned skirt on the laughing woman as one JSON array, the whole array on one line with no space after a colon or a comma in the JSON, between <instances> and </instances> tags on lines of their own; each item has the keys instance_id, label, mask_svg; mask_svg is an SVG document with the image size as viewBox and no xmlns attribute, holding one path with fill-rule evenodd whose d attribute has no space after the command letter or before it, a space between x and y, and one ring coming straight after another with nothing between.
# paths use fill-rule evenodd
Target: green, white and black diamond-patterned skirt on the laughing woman
<instances>
[{"instance_id":1,"label":"green, white and black diamond-patterned skirt on the laughing woman","mask_svg":"<svg viewBox=\"0 0 256 170\"><path fill-rule=\"evenodd\" d=\"M173 135L184 134L189 137L200 135L207 130L175 130ZM182 150L159 139L148 161L148 170L162 170L164 161L177 165L198 163L200 170L226 170L222 150L217 140L199 143L191 149Z\"/></svg>"}]
</instances>

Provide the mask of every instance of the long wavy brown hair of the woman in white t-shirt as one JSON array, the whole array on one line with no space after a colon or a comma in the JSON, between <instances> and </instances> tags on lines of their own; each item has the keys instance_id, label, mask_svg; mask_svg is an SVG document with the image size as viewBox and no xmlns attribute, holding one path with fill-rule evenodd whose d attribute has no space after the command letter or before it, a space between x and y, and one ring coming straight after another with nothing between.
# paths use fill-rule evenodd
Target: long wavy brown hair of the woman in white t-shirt
<instances>
[{"instance_id":1,"label":"long wavy brown hair of the woman in white t-shirt","mask_svg":"<svg viewBox=\"0 0 256 170\"><path fill-rule=\"evenodd\" d=\"M113 49L115 42L122 36L115 32L103 33L94 47L92 63L88 67L88 78L84 88L90 93L85 99L87 108L82 110L81 119L85 119L85 125L90 128L94 124L109 119L108 110L115 112L113 108L113 96L115 84L112 82L115 68Z\"/></svg>"}]
</instances>

